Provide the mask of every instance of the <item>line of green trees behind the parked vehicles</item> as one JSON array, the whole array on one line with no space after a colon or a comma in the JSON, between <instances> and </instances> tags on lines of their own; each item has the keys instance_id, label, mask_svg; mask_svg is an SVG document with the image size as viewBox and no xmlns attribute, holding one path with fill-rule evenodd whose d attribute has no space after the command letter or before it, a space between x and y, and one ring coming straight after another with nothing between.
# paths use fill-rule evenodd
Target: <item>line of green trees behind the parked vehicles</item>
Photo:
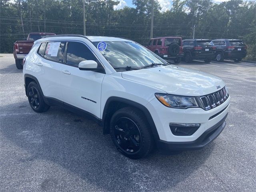
<instances>
[{"instance_id":1,"label":"line of green trees behind the parked vehicles","mask_svg":"<svg viewBox=\"0 0 256 192\"><path fill-rule=\"evenodd\" d=\"M0 52L12 52L16 40L30 32L83 34L83 0L0 0ZM154 0L153 37L239 38L255 60L256 2L173 0L161 11ZM116 10L118 0L85 0L86 35L115 36L146 45L150 39L151 0L132 0L134 7Z\"/></svg>"}]
</instances>

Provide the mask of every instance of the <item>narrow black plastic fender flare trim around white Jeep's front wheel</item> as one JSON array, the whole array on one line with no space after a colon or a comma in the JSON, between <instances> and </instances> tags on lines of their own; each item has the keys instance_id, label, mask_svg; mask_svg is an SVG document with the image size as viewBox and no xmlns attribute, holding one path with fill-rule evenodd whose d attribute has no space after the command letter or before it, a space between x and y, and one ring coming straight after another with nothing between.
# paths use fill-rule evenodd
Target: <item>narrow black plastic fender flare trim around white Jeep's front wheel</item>
<instances>
[{"instance_id":1,"label":"narrow black plastic fender flare trim around white Jeep's front wheel","mask_svg":"<svg viewBox=\"0 0 256 192\"><path fill-rule=\"evenodd\" d=\"M158 132L157 132L157 129L156 129L156 125L154 123L154 120L150 114L150 112L148 111L148 109L140 104L140 103L137 103L137 102L134 102L132 100L129 100L129 99L125 99L125 98L121 98L121 97L116 97L116 96L112 96L110 98L108 98L108 100L106 101L106 104L104 106L104 110L103 110L103 115L102 115L102 122L103 122L103 134L108 134L109 133L109 127L108 127L108 124L106 124L106 118L107 118L107 114L108 114L108 108L109 108L109 105L111 102L122 102L124 104L127 104L129 106L132 106L132 107L135 107L135 108L138 108L139 110L141 110L147 121L148 121L148 124L150 125L150 130L152 131L152 134L154 136L154 139L157 141L159 140L159 135L158 135Z\"/></svg>"}]
</instances>

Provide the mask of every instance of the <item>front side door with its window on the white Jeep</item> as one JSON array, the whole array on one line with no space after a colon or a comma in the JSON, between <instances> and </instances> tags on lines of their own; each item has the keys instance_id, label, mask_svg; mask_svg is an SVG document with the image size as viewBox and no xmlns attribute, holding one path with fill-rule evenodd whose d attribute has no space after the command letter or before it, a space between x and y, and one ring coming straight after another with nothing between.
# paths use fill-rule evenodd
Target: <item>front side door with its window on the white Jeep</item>
<instances>
[{"instance_id":1,"label":"front side door with its window on the white Jeep","mask_svg":"<svg viewBox=\"0 0 256 192\"><path fill-rule=\"evenodd\" d=\"M78 64L84 60L98 62L84 43L68 42L66 64L62 65L60 76L63 101L100 118L101 85L105 74L79 70Z\"/></svg>"}]
</instances>

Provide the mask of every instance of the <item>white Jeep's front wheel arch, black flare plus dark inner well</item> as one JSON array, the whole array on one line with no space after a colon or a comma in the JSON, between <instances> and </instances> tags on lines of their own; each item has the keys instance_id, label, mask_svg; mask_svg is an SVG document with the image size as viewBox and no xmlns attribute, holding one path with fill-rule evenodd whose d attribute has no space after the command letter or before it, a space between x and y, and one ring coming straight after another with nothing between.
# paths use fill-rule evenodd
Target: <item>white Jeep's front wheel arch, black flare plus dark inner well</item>
<instances>
[{"instance_id":1,"label":"white Jeep's front wheel arch, black flare plus dark inner well","mask_svg":"<svg viewBox=\"0 0 256 192\"><path fill-rule=\"evenodd\" d=\"M153 120L150 112L148 111L148 109L145 106L143 106L142 104L139 104L132 100L115 97L115 96L108 98L108 100L106 101L106 104L104 106L104 110L103 110L103 114L102 114L103 134L110 133L110 127L109 127L110 119L111 119L112 115L114 114L114 112L116 112L120 108L127 107L127 106L137 108L144 114L144 116L150 126L150 130L154 136L154 139L159 140L156 125L155 125L154 120Z\"/></svg>"}]
</instances>

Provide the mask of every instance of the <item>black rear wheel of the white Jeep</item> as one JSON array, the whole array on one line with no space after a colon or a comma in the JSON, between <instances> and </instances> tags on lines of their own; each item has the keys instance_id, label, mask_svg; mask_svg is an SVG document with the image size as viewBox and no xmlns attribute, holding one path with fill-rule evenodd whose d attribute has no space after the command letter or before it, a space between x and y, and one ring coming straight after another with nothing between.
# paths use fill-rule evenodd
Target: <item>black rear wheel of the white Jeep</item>
<instances>
[{"instance_id":1,"label":"black rear wheel of the white Jeep","mask_svg":"<svg viewBox=\"0 0 256 192\"><path fill-rule=\"evenodd\" d=\"M50 106L44 102L43 94L36 82L30 82L27 88L30 107L38 113L47 111Z\"/></svg>"}]
</instances>

